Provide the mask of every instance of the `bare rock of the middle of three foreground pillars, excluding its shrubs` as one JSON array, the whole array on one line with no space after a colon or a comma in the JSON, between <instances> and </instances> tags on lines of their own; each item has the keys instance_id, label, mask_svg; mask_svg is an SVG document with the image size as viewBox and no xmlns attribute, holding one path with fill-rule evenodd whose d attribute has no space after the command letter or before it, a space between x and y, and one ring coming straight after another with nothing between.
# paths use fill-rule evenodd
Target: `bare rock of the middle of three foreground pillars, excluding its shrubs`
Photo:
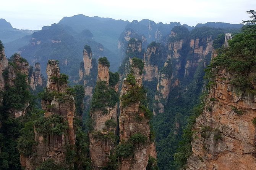
<instances>
[{"instance_id":1,"label":"bare rock of the middle of three foreground pillars, excluding its shrubs","mask_svg":"<svg viewBox=\"0 0 256 170\"><path fill-rule=\"evenodd\" d=\"M109 65L101 63L98 64L98 79L97 83L105 82L106 91L109 88ZM98 87L96 86L96 90ZM96 97L95 97L96 98ZM114 106L106 106L105 111L99 109L92 109L90 117L92 119L93 127L89 132L90 140L90 156L92 160L92 169L101 170L109 162L111 151L114 151L117 134L117 103ZM108 123L112 123L109 126Z\"/></svg>"}]
</instances>

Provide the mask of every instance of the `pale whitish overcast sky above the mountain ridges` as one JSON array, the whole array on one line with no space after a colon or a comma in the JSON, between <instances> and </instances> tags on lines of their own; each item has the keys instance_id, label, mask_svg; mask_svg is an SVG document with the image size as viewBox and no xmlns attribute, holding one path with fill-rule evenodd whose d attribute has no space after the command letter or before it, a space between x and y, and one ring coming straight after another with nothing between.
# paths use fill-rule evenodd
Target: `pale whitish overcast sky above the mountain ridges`
<instances>
[{"instance_id":1,"label":"pale whitish overcast sky above the mountain ridges","mask_svg":"<svg viewBox=\"0 0 256 170\"><path fill-rule=\"evenodd\" d=\"M196 25L228 22L239 24L256 9L256 0L1 0L0 18L18 29L41 29L64 16L111 17L140 21Z\"/></svg>"}]
</instances>

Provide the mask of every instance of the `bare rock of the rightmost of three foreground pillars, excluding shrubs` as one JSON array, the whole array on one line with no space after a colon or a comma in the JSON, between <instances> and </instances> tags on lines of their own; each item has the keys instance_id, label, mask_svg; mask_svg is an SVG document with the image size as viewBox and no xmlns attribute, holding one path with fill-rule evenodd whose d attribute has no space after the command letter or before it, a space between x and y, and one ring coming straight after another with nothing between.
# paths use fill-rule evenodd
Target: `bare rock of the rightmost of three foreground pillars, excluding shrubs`
<instances>
[{"instance_id":1,"label":"bare rock of the rightmost of three foreground pillars, excluding shrubs","mask_svg":"<svg viewBox=\"0 0 256 170\"><path fill-rule=\"evenodd\" d=\"M127 79L124 79L121 95L126 95L133 86L142 86L142 74L138 67L131 61L131 73L135 77L136 84L132 85ZM146 170L149 156L156 158L156 148L154 142L150 141L149 119L145 117L145 112L140 109L140 102L135 102L124 106L120 102L120 143L127 142L134 134L142 134L146 138L144 144L138 143L134 146L134 156L121 157L119 170ZM140 118L138 120L138 117Z\"/></svg>"}]
</instances>

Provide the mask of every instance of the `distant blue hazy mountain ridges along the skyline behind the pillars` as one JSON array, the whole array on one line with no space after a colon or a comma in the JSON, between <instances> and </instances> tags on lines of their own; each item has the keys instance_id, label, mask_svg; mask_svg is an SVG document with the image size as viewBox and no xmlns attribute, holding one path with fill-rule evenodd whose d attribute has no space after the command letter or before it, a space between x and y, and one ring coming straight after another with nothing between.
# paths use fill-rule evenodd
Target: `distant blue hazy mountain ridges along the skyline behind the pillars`
<instances>
[{"instance_id":1,"label":"distant blue hazy mountain ridges along the skyline behind the pillars","mask_svg":"<svg viewBox=\"0 0 256 170\"><path fill-rule=\"evenodd\" d=\"M143 35L146 42L143 43L143 46L146 47L151 41L160 42L175 26L181 26L181 24L179 22L170 22L170 24L160 22L157 24L148 19L129 22L79 14L73 17L63 17L58 24L43 27L42 30L35 32L33 30L14 29L10 23L1 19L0 40L3 41L7 57L15 52L20 52L28 59L29 63L42 62L43 70L45 69L44 62L47 60L45 57L50 57L60 60L60 68L65 65L68 70L71 69L71 73L77 73L77 67L82 61L83 46L89 44L93 50L95 49L94 57L106 56L111 63L110 69L116 71L123 59L120 50L118 50L118 40L122 41L120 38L123 38L122 34L126 30L131 29L137 35ZM183 26L188 30L195 28L185 24ZM202 26L239 29L243 25L221 22L196 25L196 27ZM72 68L69 65L72 65ZM74 65L76 68L73 67Z\"/></svg>"}]
</instances>

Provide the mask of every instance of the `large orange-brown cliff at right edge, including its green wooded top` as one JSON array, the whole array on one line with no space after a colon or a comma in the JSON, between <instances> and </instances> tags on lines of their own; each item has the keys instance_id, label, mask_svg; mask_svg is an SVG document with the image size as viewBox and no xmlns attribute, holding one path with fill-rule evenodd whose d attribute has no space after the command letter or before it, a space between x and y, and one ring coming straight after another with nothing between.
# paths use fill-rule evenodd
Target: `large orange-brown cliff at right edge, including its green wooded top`
<instances>
[{"instance_id":1,"label":"large orange-brown cliff at right edge, including its green wooded top","mask_svg":"<svg viewBox=\"0 0 256 170\"><path fill-rule=\"evenodd\" d=\"M255 36L256 26L245 26L207 69L209 95L193 127L187 170L255 169Z\"/></svg>"}]
</instances>

